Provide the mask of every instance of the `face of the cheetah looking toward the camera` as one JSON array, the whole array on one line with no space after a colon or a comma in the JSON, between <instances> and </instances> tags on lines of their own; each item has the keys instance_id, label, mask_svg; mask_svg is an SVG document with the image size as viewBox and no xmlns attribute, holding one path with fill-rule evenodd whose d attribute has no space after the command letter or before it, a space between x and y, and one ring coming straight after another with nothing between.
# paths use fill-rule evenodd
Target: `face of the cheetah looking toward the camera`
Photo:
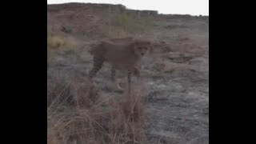
<instances>
[{"instance_id":1,"label":"face of the cheetah looking toward the camera","mask_svg":"<svg viewBox=\"0 0 256 144\"><path fill-rule=\"evenodd\" d=\"M145 57L151 48L151 43L146 41L137 41L134 44L134 52L141 58Z\"/></svg>"}]
</instances>

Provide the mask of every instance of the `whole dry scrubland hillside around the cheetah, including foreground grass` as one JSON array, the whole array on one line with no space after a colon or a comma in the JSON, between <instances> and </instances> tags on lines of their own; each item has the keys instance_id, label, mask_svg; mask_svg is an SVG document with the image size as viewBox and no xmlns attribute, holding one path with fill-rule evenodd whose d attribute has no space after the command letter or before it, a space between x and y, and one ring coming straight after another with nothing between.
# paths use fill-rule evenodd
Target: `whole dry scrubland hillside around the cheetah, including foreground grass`
<instances>
[{"instance_id":1,"label":"whole dry scrubland hillside around the cheetah, including foreground grass","mask_svg":"<svg viewBox=\"0 0 256 144\"><path fill-rule=\"evenodd\" d=\"M209 143L209 17L67 3L48 5L47 32L49 144ZM90 86L90 44L126 37L154 43L134 94L107 63Z\"/></svg>"}]
</instances>

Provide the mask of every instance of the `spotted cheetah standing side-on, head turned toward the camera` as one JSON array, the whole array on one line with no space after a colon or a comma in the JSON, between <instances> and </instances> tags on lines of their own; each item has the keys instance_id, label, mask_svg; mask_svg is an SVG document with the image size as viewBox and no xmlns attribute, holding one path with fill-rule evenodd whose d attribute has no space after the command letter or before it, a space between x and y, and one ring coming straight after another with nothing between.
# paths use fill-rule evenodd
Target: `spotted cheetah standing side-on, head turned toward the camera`
<instances>
[{"instance_id":1,"label":"spotted cheetah standing side-on, head turned toward the camera","mask_svg":"<svg viewBox=\"0 0 256 144\"><path fill-rule=\"evenodd\" d=\"M145 58L151 49L151 42L145 40L130 40L130 42L101 42L92 46L89 51L93 55L94 66L89 72L90 82L102 68L104 62L108 62L111 68L111 80L114 81L115 70L127 72L128 90L130 91L131 75L139 75L139 63ZM120 89L120 86L118 86Z\"/></svg>"}]
</instances>

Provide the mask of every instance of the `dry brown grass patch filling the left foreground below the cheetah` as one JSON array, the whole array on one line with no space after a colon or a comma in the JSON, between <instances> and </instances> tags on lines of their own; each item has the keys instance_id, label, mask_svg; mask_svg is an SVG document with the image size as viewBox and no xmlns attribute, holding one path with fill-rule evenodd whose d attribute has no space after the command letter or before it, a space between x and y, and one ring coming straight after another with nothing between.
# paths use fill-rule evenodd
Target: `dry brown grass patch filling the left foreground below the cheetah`
<instances>
[{"instance_id":1,"label":"dry brown grass patch filling the left foreground below the cheetah","mask_svg":"<svg viewBox=\"0 0 256 144\"><path fill-rule=\"evenodd\" d=\"M94 86L63 83L48 90L48 143L145 143L141 95L118 101Z\"/></svg>"}]
</instances>

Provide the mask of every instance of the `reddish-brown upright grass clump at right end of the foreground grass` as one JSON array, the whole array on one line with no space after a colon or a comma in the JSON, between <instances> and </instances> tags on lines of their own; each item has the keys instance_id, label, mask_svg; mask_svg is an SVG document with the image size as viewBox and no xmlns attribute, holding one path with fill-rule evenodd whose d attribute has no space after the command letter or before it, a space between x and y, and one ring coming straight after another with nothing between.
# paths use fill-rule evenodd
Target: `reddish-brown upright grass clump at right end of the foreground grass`
<instances>
[{"instance_id":1,"label":"reddish-brown upright grass clump at right end of the foreground grass","mask_svg":"<svg viewBox=\"0 0 256 144\"><path fill-rule=\"evenodd\" d=\"M126 95L122 102L111 99L112 109L106 121L110 143L143 143L145 114L141 96Z\"/></svg>"}]
</instances>

